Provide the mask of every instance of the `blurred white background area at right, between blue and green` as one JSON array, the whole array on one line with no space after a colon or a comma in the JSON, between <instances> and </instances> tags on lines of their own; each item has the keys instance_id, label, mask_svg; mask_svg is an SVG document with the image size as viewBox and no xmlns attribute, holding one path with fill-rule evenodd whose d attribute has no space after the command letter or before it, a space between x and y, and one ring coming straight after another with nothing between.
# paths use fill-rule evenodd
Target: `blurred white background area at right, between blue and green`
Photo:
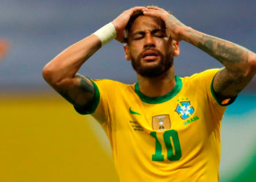
<instances>
[{"instance_id":1,"label":"blurred white background area at right, between blue and green","mask_svg":"<svg viewBox=\"0 0 256 182\"><path fill-rule=\"evenodd\" d=\"M256 149L256 109L222 119L221 178L233 178L251 163Z\"/></svg>"}]
</instances>

